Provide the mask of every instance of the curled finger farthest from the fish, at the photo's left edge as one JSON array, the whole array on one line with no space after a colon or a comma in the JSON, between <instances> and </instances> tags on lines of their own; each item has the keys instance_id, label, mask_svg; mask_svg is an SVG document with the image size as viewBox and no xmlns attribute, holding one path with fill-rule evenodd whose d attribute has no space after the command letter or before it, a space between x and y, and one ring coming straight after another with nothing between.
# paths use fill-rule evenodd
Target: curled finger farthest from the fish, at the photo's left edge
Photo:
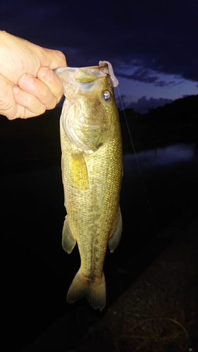
<instances>
[{"instance_id":1,"label":"curled finger farthest from the fish, at the photo's left edge","mask_svg":"<svg viewBox=\"0 0 198 352\"><path fill-rule=\"evenodd\" d=\"M0 75L0 113L9 120L16 118L17 104L13 94L13 84Z\"/></svg>"}]
</instances>

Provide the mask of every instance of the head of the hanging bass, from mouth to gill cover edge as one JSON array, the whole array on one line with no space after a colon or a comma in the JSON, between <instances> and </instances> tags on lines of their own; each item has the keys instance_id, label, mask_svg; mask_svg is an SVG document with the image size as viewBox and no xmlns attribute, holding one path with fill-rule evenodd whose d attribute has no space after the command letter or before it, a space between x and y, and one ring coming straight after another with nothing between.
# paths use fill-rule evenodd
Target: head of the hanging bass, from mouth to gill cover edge
<instances>
[{"instance_id":1,"label":"head of the hanging bass, from mouth to gill cover edge","mask_svg":"<svg viewBox=\"0 0 198 352\"><path fill-rule=\"evenodd\" d=\"M66 99L61 123L66 136L87 153L94 153L113 135L117 112L108 65L87 68L58 68Z\"/></svg>"}]
</instances>

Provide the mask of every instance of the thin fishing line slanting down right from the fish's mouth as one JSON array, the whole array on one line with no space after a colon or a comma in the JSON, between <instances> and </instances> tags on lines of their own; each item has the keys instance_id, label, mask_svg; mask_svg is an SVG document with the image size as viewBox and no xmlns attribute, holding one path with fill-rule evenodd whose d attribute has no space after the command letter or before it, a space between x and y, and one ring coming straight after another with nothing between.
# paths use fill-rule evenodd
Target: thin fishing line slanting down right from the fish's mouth
<instances>
[{"instance_id":1,"label":"thin fishing line slanting down right from the fish's mouth","mask_svg":"<svg viewBox=\"0 0 198 352\"><path fill-rule=\"evenodd\" d=\"M135 151L135 146L134 146L134 144L133 144L133 142L132 142L132 136L131 136L130 128L129 128L129 125L128 125L128 120L127 120L127 117L126 117L126 114L125 114L125 109L124 109L124 106L123 106L123 101L122 101L122 98L121 98L121 96L120 96L119 88L118 88L118 87L116 87L116 88L118 89L118 95L119 95L120 103L121 103L121 106L122 106L122 109L123 109L123 114L124 114L124 117L125 117L125 122L126 122L126 125L127 125L127 128L128 128L128 133L129 133L129 136L130 136L130 142L131 142L132 150L133 150L134 156L135 156L135 162L137 163L137 168L138 168L138 171L139 171L139 173L140 173L140 179L141 179L141 181L142 181L142 187L143 187L143 189L144 189L144 194L145 194L146 199L147 199L147 204L148 204L148 206L149 206L149 211L150 211L150 213L151 213L151 218L152 218L152 220L153 220L153 222L154 222L154 227L155 227L155 230L156 230L156 234L159 235L158 227L157 227L157 225L156 225L156 220L155 220L155 217L154 217L154 212L153 212L153 210L152 210L152 208L151 208L151 203L150 203L150 201L149 201L149 196L148 196L148 193L147 193L147 189L146 189L145 184L144 184L144 179L143 179L143 176L142 176L142 171L140 170L140 164L139 164L139 161L138 161L138 159L137 159L137 153L136 153L136 151Z\"/></svg>"}]
</instances>

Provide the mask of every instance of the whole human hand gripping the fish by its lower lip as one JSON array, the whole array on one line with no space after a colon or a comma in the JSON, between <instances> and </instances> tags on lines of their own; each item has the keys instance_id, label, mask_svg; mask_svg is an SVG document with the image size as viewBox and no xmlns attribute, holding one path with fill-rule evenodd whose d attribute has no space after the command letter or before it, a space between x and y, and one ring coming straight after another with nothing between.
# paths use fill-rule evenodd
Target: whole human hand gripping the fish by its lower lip
<instances>
[{"instance_id":1,"label":"whole human hand gripping the fish by its lower lip","mask_svg":"<svg viewBox=\"0 0 198 352\"><path fill-rule=\"evenodd\" d=\"M0 114L31 118L56 106L63 96L52 71L66 66L61 51L44 49L0 31Z\"/></svg>"}]
</instances>

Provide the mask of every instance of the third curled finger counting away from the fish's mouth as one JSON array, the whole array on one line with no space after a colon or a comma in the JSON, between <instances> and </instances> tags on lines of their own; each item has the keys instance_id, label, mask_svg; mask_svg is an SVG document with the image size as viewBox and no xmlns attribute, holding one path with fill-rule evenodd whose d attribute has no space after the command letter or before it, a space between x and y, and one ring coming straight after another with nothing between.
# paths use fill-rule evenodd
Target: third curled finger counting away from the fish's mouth
<instances>
[{"instance_id":1,"label":"third curled finger counting away from the fish's mouth","mask_svg":"<svg viewBox=\"0 0 198 352\"><path fill-rule=\"evenodd\" d=\"M36 96L23 91L18 86L13 87L16 103L18 104L17 118L33 118L42 115L46 111L46 107Z\"/></svg>"}]
</instances>

